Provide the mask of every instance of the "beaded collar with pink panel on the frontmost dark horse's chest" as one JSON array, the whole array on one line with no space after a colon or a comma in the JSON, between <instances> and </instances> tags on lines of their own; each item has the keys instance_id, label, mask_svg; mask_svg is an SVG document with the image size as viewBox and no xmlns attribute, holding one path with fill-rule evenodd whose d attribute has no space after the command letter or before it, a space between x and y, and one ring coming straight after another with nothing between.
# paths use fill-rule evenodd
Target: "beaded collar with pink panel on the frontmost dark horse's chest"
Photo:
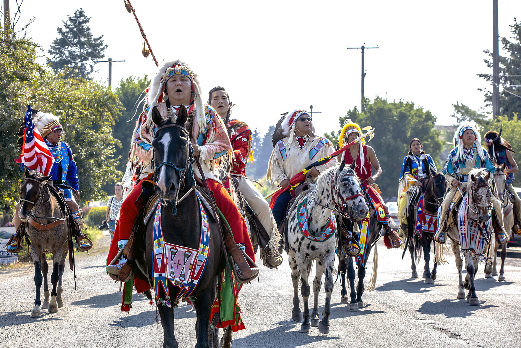
<instances>
[{"instance_id":1,"label":"beaded collar with pink panel on the frontmost dark horse's chest","mask_svg":"<svg viewBox=\"0 0 521 348\"><path fill-rule=\"evenodd\" d=\"M158 204L154 216L154 255L152 257L152 269L154 270L154 290L158 304L170 307L167 280L179 287L181 291L177 300L189 297L195 290L208 260L210 249L210 234L208 233L208 219L199 197L197 204L201 214L201 238L199 250L166 243L163 240L161 225L162 205ZM163 288L165 297L159 296L160 288ZM177 301L176 301L177 302Z\"/></svg>"}]
</instances>

